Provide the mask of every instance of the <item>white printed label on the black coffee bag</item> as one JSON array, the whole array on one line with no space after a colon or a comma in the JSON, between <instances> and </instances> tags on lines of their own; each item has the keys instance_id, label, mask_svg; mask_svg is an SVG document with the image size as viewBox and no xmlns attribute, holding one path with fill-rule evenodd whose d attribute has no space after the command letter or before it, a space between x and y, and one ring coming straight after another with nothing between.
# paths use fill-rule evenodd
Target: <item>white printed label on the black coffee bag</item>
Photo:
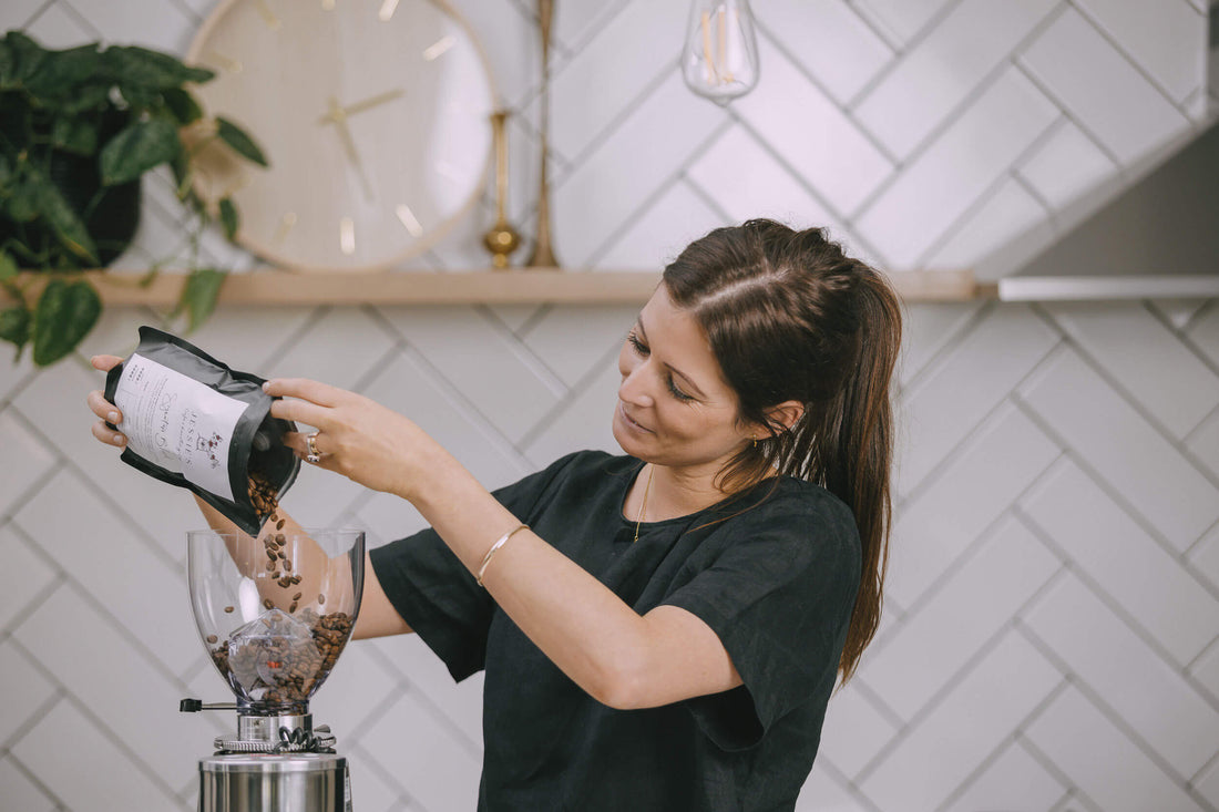
<instances>
[{"instance_id":1,"label":"white printed label on the black coffee bag","mask_svg":"<svg viewBox=\"0 0 1219 812\"><path fill-rule=\"evenodd\" d=\"M249 404L137 354L123 363L115 405L132 451L233 501L228 451Z\"/></svg>"}]
</instances>

